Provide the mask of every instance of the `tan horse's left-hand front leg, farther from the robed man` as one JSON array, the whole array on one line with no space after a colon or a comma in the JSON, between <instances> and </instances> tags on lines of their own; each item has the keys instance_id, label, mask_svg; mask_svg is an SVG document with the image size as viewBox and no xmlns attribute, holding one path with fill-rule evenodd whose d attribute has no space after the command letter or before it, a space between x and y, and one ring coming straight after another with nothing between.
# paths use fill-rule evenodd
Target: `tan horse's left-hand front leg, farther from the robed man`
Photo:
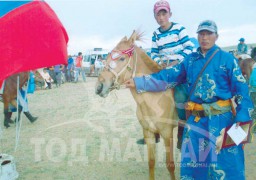
<instances>
[{"instance_id":1,"label":"tan horse's left-hand front leg, farther from the robed man","mask_svg":"<svg viewBox=\"0 0 256 180\"><path fill-rule=\"evenodd\" d=\"M155 151L156 151L156 142L155 134L148 130L143 129L144 139L148 148L148 166L149 166L149 179L155 179Z\"/></svg>"}]
</instances>

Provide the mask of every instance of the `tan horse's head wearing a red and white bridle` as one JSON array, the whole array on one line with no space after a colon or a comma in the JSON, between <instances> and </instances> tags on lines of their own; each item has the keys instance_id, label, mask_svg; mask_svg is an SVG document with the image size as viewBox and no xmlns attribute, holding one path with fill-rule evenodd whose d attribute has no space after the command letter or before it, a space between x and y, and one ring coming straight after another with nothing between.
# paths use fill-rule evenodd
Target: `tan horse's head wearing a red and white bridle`
<instances>
[{"instance_id":1,"label":"tan horse's head wearing a red and white bridle","mask_svg":"<svg viewBox=\"0 0 256 180\"><path fill-rule=\"evenodd\" d=\"M104 70L98 77L95 92L106 97L113 89L119 89L124 81L130 79L136 71L137 51L135 41L141 37L134 31L129 39L124 37L107 57Z\"/></svg>"}]
</instances>

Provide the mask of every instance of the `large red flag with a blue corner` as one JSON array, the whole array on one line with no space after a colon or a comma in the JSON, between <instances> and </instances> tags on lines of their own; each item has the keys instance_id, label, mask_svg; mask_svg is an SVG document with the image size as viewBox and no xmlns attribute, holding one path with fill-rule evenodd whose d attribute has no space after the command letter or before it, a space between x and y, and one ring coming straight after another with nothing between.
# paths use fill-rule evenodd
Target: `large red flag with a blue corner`
<instances>
[{"instance_id":1,"label":"large red flag with a blue corner","mask_svg":"<svg viewBox=\"0 0 256 180\"><path fill-rule=\"evenodd\" d=\"M0 80L67 63L68 35L43 1L0 1Z\"/></svg>"}]
</instances>

